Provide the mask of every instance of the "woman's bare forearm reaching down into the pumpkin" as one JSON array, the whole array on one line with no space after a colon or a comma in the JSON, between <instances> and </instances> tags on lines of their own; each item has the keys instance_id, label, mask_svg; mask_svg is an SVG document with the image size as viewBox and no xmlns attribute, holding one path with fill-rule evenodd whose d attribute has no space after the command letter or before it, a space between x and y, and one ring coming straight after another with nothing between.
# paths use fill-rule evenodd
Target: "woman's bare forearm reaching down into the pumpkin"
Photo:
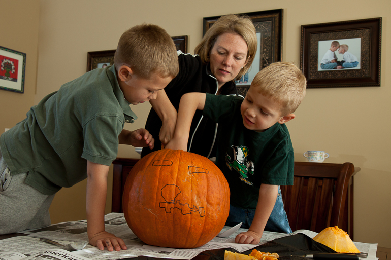
<instances>
[{"instance_id":1,"label":"woman's bare forearm reaching down into the pumpkin","mask_svg":"<svg viewBox=\"0 0 391 260\"><path fill-rule=\"evenodd\" d=\"M158 91L156 99L149 100L149 103L162 122L159 139L163 145L166 145L174 135L177 110L175 110L175 107L172 105L164 90Z\"/></svg>"}]
</instances>

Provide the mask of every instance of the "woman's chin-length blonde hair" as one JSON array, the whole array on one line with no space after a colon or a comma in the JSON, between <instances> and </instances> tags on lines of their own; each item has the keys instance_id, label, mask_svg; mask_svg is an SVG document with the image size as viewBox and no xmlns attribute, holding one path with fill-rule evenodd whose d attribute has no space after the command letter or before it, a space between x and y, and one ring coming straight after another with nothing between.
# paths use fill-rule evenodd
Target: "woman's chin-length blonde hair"
<instances>
[{"instance_id":1,"label":"woman's chin-length blonde hair","mask_svg":"<svg viewBox=\"0 0 391 260\"><path fill-rule=\"evenodd\" d=\"M247 44L247 64L236 76L236 79L239 80L248 71L254 61L257 47L256 30L248 16L233 14L221 16L205 33L201 42L194 49L194 54L198 54L201 61L204 64L208 64L210 62L209 54L214 43L218 36L226 32L239 34Z\"/></svg>"}]
</instances>

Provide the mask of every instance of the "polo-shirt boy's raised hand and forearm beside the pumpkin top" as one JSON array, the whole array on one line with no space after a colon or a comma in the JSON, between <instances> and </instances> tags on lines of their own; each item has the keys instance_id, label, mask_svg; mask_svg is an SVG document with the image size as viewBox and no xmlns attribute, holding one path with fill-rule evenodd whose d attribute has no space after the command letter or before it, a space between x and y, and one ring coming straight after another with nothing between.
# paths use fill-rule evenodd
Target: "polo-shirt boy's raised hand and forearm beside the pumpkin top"
<instances>
[{"instance_id":1,"label":"polo-shirt boy's raised hand and forearm beside the pumpkin top","mask_svg":"<svg viewBox=\"0 0 391 260\"><path fill-rule=\"evenodd\" d=\"M134 131L122 129L121 133L118 135L118 143L133 145L135 147L149 146L150 149L153 149L155 146L155 139L152 138L152 135L148 130L143 128Z\"/></svg>"}]
</instances>

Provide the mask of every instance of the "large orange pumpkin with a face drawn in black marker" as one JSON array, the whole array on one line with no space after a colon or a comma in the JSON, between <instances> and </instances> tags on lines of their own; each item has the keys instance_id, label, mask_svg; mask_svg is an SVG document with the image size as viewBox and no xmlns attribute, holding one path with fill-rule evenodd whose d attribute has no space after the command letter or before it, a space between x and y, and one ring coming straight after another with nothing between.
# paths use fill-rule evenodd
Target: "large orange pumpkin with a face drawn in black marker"
<instances>
[{"instance_id":1,"label":"large orange pumpkin with a face drawn in black marker","mask_svg":"<svg viewBox=\"0 0 391 260\"><path fill-rule=\"evenodd\" d=\"M122 197L127 225L144 243L195 248L212 240L230 211L230 188L206 157L164 149L140 159Z\"/></svg>"}]
</instances>

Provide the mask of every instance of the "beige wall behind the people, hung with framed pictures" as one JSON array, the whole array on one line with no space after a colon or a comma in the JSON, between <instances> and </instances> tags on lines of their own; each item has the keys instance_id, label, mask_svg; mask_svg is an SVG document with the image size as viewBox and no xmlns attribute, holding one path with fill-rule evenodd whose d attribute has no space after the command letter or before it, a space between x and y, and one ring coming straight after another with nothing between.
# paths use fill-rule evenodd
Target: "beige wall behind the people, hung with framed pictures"
<instances>
[{"instance_id":1,"label":"beige wall behind the people, hung with framed pictures","mask_svg":"<svg viewBox=\"0 0 391 260\"><path fill-rule=\"evenodd\" d=\"M302 154L307 150L325 150L330 154L326 162L352 162L361 168L354 178L354 240L391 247L391 189L388 187L391 182L391 76L387 73L388 65L391 65L388 42L391 41L389 0L345 1L347 7L342 7L341 3L333 6L327 1L314 0L242 0L224 4L210 0L41 0L39 8L37 1L16 1L20 2L31 6L28 8L23 5L23 10L31 13L29 17L32 15L37 19L39 14L37 94L34 102L23 100L26 107L21 109L19 103L24 96L34 95L27 93L35 87L34 82L29 83L32 86L26 87L25 94L1 91L0 124L5 127L23 119L27 107L57 90L60 84L81 76L86 71L88 51L115 49L121 33L139 23L158 24L172 36L188 35L188 50L192 52L202 38L203 17L282 8L283 60L300 64L301 25L383 17L381 87L309 89L297 110L297 118L289 122L288 127L296 161L304 161ZM0 0L2 9L7 3ZM8 5L10 12L5 12L6 15L11 17L10 13L20 12L16 10L18 4ZM3 35L6 30L1 28L0 45L27 52L27 62L30 63L27 63L26 71L30 73L35 70L35 64L31 64L29 59L34 56L32 46L36 46L36 40L30 46L25 39L37 39L37 26L34 25L37 22L33 19L34 22L29 24L27 17L23 15L21 19L33 28L20 29L31 37L10 33L9 37L12 38L5 42ZM5 115L4 103L12 108L11 115ZM139 120L126 128L143 127L149 108L149 104L132 106ZM3 125L0 127L0 130L4 128ZM118 156L137 158L138 154L131 147L121 146ZM85 182L62 189L50 209L52 221L85 219L84 203ZM110 203L107 207L109 212Z\"/></svg>"}]
</instances>

